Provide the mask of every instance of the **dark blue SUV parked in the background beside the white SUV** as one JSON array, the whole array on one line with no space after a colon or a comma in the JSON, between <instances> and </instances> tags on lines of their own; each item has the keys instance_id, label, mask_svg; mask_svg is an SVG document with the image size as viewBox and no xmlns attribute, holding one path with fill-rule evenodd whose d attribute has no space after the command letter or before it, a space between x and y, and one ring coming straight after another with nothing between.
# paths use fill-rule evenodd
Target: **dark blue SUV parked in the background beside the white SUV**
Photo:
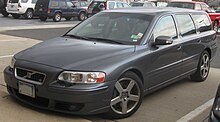
<instances>
[{"instance_id":1,"label":"dark blue SUV parked in the background beside the white SUV","mask_svg":"<svg viewBox=\"0 0 220 122\"><path fill-rule=\"evenodd\" d=\"M41 21L52 18L54 22L59 22L61 18L71 20L72 17L83 21L86 19L87 11L70 0L38 0L35 14L40 17Z\"/></svg>"}]
</instances>

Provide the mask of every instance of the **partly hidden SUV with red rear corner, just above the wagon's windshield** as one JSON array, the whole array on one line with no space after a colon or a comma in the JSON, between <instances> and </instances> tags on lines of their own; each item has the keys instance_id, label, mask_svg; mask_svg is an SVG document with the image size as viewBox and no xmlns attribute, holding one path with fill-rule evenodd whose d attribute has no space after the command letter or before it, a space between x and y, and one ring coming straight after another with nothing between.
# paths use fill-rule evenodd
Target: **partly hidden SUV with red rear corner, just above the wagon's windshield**
<instances>
[{"instance_id":1,"label":"partly hidden SUV with red rear corner, just above the wagon's windshield","mask_svg":"<svg viewBox=\"0 0 220 122\"><path fill-rule=\"evenodd\" d=\"M88 17L103 10L126 7L130 7L130 5L126 2L113 0L93 0L88 7Z\"/></svg>"}]
</instances>

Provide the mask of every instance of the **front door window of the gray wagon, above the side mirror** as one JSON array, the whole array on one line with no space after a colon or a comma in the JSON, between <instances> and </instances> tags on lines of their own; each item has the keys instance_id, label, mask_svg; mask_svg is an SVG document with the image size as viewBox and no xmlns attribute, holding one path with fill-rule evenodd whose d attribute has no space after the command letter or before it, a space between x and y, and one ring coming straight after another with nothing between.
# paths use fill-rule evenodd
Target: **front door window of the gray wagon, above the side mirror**
<instances>
[{"instance_id":1,"label":"front door window of the gray wagon, above the side mirror","mask_svg":"<svg viewBox=\"0 0 220 122\"><path fill-rule=\"evenodd\" d=\"M172 16L166 16L157 23L154 30L154 39L158 36L169 36L173 39L177 38L176 26Z\"/></svg>"}]
</instances>

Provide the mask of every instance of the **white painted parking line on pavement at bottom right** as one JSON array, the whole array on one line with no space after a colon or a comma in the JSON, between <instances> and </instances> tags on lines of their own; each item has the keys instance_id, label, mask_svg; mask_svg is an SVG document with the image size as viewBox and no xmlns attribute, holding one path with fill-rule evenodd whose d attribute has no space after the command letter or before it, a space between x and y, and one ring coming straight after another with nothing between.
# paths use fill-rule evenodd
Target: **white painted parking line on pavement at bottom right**
<instances>
[{"instance_id":1,"label":"white painted parking line on pavement at bottom right","mask_svg":"<svg viewBox=\"0 0 220 122\"><path fill-rule=\"evenodd\" d=\"M185 116L183 116L182 118L180 118L176 122L189 122L189 121L193 120L193 118L197 117L198 115L203 113L206 109L211 107L213 102L214 102L214 98L209 100L205 104L199 106L198 108L194 109L190 113L186 114Z\"/></svg>"}]
</instances>

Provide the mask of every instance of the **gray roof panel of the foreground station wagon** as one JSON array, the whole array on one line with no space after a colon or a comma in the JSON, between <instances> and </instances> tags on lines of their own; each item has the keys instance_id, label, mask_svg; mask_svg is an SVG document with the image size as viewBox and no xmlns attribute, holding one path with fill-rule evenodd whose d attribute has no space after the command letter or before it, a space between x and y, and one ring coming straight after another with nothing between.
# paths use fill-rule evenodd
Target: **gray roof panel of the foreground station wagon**
<instances>
[{"instance_id":1,"label":"gray roof panel of the foreground station wagon","mask_svg":"<svg viewBox=\"0 0 220 122\"><path fill-rule=\"evenodd\" d=\"M128 7L120 9L106 10L104 12L119 12L119 13L142 13L142 14L151 14L151 15L160 15L164 13L192 13L192 12L203 12L193 9L184 9L184 8L173 8L173 7Z\"/></svg>"}]
</instances>

